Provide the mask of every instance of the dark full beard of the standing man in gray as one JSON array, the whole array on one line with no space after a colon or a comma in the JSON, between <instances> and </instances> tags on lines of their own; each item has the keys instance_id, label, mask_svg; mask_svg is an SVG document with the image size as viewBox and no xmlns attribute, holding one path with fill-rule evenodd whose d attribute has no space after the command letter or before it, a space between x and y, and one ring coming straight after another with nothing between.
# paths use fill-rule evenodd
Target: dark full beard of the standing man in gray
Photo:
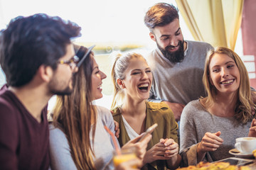
<instances>
[{"instance_id":1,"label":"dark full beard of the standing man in gray","mask_svg":"<svg viewBox=\"0 0 256 170\"><path fill-rule=\"evenodd\" d=\"M162 52L164 57L166 57L167 60L169 60L172 63L182 62L184 59L184 50L183 50L183 43L184 40L178 41L178 50L175 52L169 52L169 48L174 48L173 45L168 45L164 48L160 47L159 43L156 41L156 45L159 48L159 50Z\"/></svg>"}]
</instances>

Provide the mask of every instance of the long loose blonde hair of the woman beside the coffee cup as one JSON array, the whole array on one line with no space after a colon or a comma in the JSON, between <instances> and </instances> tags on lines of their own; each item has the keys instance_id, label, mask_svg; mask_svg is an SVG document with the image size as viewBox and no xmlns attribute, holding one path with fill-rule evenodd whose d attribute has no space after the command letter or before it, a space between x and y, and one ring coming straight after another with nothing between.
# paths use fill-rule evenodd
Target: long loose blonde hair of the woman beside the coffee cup
<instances>
[{"instance_id":1,"label":"long loose blonde hair of the woman beside the coffee cup","mask_svg":"<svg viewBox=\"0 0 256 170\"><path fill-rule=\"evenodd\" d=\"M252 109L255 109L255 103L252 101L252 92L250 89L250 80L248 73L240 57L226 47L215 47L214 50L210 50L206 57L206 64L203 72L203 84L206 89L207 97L201 98L205 102L205 106L208 108L215 102L217 89L215 86L210 84L210 60L215 54L224 54L232 58L238 67L240 72L240 86L238 88L238 101L235 106L235 119L242 123L247 123L252 120Z\"/></svg>"}]
</instances>

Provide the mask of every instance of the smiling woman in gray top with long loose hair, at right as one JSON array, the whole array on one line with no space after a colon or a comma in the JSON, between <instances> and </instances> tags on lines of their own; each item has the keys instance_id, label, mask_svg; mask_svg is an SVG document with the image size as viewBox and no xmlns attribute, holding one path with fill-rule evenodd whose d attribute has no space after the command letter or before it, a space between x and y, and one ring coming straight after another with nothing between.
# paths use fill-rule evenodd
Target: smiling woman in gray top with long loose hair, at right
<instances>
[{"instance_id":1,"label":"smiling woman in gray top with long loose hair, at right","mask_svg":"<svg viewBox=\"0 0 256 170\"><path fill-rule=\"evenodd\" d=\"M226 47L210 50L203 84L208 96L191 101L181 114L182 166L232 157L238 137L256 137L255 103L240 57Z\"/></svg>"}]
</instances>

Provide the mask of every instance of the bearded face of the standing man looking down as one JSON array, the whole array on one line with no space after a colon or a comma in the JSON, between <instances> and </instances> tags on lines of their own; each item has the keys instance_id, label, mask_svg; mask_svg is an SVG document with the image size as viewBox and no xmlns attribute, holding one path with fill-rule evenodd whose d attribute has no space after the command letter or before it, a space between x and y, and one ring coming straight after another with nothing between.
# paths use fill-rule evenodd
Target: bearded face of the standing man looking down
<instances>
[{"instance_id":1,"label":"bearded face of the standing man looking down","mask_svg":"<svg viewBox=\"0 0 256 170\"><path fill-rule=\"evenodd\" d=\"M178 18L166 26L157 26L150 33L152 40L170 62L181 62L184 58L184 42Z\"/></svg>"}]
</instances>

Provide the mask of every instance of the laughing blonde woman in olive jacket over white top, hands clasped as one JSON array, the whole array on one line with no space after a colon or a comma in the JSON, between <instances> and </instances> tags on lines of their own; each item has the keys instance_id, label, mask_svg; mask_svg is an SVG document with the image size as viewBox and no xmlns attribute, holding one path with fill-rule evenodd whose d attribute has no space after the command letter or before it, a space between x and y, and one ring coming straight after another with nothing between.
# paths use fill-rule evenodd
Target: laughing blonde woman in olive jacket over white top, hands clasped
<instances>
[{"instance_id":1,"label":"laughing blonde woman in olive jacket over white top, hands clasped","mask_svg":"<svg viewBox=\"0 0 256 170\"><path fill-rule=\"evenodd\" d=\"M112 81L112 115L119 123L119 144L125 145L157 123L143 160L144 169L176 169L181 162L178 125L174 113L164 102L146 101L152 74L144 57L137 53L117 55L112 67Z\"/></svg>"}]
</instances>

